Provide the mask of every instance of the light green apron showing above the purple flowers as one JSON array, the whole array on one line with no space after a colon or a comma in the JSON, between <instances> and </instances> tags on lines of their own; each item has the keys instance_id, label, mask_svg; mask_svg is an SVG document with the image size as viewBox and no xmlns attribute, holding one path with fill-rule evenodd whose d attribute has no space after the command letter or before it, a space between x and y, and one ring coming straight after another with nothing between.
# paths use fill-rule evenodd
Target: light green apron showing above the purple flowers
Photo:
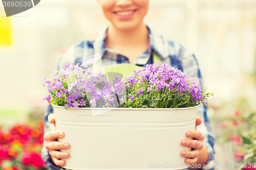
<instances>
[{"instance_id":1,"label":"light green apron showing above the purple flowers","mask_svg":"<svg viewBox=\"0 0 256 170\"><path fill-rule=\"evenodd\" d=\"M162 62L158 54L156 54L155 51L153 51L153 62ZM106 72L115 72L122 74L122 76L130 76L134 75L134 71L139 71L140 69L143 69L145 67L130 64L130 63L121 63L121 64L114 64L114 65L108 65L108 66L102 66L102 60L99 60L95 65L93 65L92 69L94 71L99 71L102 69L102 74L106 74Z\"/></svg>"}]
</instances>

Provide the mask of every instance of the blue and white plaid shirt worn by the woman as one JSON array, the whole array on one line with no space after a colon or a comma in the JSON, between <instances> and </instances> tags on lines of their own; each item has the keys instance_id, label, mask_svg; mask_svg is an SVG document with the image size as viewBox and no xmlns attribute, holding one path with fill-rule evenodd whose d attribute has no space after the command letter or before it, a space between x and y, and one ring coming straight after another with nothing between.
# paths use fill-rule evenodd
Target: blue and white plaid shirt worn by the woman
<instances>
[{"instance_id":1,"label":"blue and white plaid shirt worn by the woman","mask_svg":"<svg viewBox=\"0 0 256 170\"><path fill-rule=\"evenodd\" d=\"M89 58L94 58L96 62L102 59L102 63L104 65L129 63L129 59L127 57L122 56L117 52L105 47L104 41L107 29L107 26L104 27L100 32L99 36L95 39L95 41L81 41L71 46L66 52L66 54L60 59L57 68L58 71L61 71L62 66L67 62L75 62L76 64L78 62L81 63L81 61L87 60ZM146 64L152 64L152 51L154 50L160 56L160 59L162 60L163 63L170 64L173 67L176 67L182 71L186 71L188 76L198 79L201 84L201 88L203 89L201 72L193 52L191 52L190 50L188 50L187 48L185 48L177 42L169 41L167 39L164 39L162 36L152 33L152 31L148 27L147 30L150 39L150 47L144 53L142 53L133 62L133 64L143 67L145 67ZM202 169L212 170L214 169L213 165L215 164L215 136L211 132L209 119L207 117L206 111L207 107L205 107L203 104L201 104L198 107L197 116L199 116L202 119L202 124L197 128L205 135L203 143L207 147L207 151L209 154L206 167L203 167ZM54 113L54 111L53 107L51 105L48 105L44 115L45 133L51 131L53 128L53 125L48 122L47 118L50 113ZM56 166L54 163L52 163L49 151L45 148L45 141L42 147L41 155L48 169L63 169L62 167Z\"/></svg>"}]
</instances>

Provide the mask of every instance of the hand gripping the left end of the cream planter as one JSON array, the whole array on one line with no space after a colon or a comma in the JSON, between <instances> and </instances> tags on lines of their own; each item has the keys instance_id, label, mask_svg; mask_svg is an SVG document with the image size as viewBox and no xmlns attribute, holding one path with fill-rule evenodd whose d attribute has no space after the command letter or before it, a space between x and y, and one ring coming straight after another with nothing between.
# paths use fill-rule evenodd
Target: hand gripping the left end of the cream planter
<instances>
[{"instance_id":1,"label":"hand gripping the left end of the cream planter","mask_svg":"<svg viewBox=\"0 0 256 170\"><path fill-rule=\"evenodd\" d=\"M44 135L44 139L46 141L45 147L51 155L52 162L54 162L57 166L64 166L66 161L60 159L69 158L70 154L68 152L59 152L58 150L69 149L70 144L67 142L58 141L58 138L64 137L64 132L56 130L55 115L53 113L49 114L48 121L54 125L54 128Z\"/></svg>"}]
</instances>

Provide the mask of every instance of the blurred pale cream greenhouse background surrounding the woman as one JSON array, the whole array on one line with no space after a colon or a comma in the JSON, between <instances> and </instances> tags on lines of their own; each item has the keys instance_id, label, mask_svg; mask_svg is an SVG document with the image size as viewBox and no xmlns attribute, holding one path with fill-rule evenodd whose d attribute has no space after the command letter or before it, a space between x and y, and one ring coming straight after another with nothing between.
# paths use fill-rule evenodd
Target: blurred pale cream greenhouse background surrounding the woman
<instances>
[{"instance_id":1,"label":"blurred pale cream greenhouse background surrounding the woman","mask_svg":"<svg viewBox=\"0 0 256 170\"><path fill-rule=\"evenodd\" d=\"M144 21L194 51L204 86L214 92L207 114L216 135L216 164L256 162L256 1L150 0ZM52 78L69 46L94 40L107 23L96 0L42 0L11 17L0 4L2 142L13 127L21 135L33 134L29 127L36 126L42 133L43 79ZM39 132L36 138L42 139ZM3 167L11 165L4 162Z\"/></svg>"}]
</instances>

